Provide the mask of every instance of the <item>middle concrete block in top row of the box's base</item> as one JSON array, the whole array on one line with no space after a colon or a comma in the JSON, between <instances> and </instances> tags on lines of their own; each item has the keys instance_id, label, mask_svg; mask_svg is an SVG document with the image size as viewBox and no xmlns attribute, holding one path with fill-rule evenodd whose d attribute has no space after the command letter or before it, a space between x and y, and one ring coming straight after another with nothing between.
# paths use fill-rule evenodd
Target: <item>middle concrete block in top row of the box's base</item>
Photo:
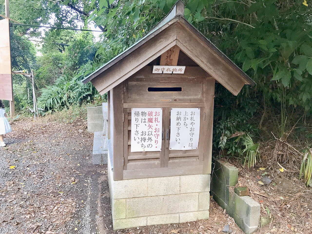
<instances>
[{"instance_id":1,"label":"middle concrete block in top row of the box's base","mask_svg":"<svg viewBox=\"0 0 312 234\"><path fill-rule=\"evenodd\" d=\"M148 179L148 196L179 194L180 177L156 177Z\"/></svg>"}]
</instances>

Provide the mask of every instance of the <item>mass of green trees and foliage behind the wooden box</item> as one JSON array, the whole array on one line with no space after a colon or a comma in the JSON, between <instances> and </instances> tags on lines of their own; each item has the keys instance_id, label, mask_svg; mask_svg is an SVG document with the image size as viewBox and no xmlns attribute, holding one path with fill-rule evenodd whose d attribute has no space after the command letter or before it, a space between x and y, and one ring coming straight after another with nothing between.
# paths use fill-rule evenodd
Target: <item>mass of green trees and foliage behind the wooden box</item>
<instances>
[{"instance_id":1,"label":"mass of green trees and foliage behind the wooden box","mask_svg":"<svg viewBox=\"0 0 312 234\"><path fill-rule=\"evenodd\" d=\"M78 27L82 23L86 27L95 23L103 31L98 43L94 43L91 34L72 31L50 30L42 37L48 43L41 49L43 56L38 59L41 67L36 82L38 88L47 85L41 90L40 98L46 110L61 110L99 97L90 84L80 82L82 77L142 38L176 2L35 0L28 4L12 1L17 7L11 7L11 17L20 22L46 24L53 14L54 26ZM186 0L184 4L185 18L257 83L255 87L244 87L237 97L220 85L216 85L215 93L214 150L230 156L248 155L246 160L252 165L257 154L250 153L254 150L246 147L247 143L252 145L251 139L241 138L238 144L231 138L233 134L246 132L256 137L263 134L260 119L268 120L268 108L271 108L270 116L280 123L280 136L287 132L286 123L291 121L288 110L298 115L312 114L311 7L300 0ZM34 13L30 12L32 7L36 7ZM25 12L28 15L23 17ZM30 27L12 28L15 35L26 32L40 35ZM27 51L27 46L21 50ZM33 59L29 61L32 63L24 64L35 64ZM27 80L22 81L28 84Z\"/></svg>"}]
</instances>

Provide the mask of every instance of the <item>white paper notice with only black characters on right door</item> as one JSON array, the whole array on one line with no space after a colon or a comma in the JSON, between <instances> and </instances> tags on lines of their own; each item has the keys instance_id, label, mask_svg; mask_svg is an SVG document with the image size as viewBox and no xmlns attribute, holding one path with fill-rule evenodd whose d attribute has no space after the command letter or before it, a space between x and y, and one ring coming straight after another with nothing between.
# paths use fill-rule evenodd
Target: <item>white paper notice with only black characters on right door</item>
<instances>
[{"instance_id":1,"label":"white paper notice with only black characters on right door","mask_svg":"<svg viewBox=\"0 0 312 234\"><path fill-rule=\"evenodd\" d=\"M197 149L200 108L171 108L170 150Z\"/></svg>"}]
</instances>

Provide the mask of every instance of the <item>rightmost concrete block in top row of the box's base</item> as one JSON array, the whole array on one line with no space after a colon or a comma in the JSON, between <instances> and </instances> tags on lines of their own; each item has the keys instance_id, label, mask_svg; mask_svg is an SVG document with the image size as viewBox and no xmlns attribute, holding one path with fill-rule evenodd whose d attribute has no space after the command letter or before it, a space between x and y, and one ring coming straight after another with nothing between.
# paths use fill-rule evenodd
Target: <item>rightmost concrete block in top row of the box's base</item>
<instances>
[{"instance_id":1,"label":"rightmost concrete block in top row of the box's base","mask_svg":"<svg viewBox=\"0 0 312 234\"><path fill-rule=\"evenodd\" d=\"M180 193L210 191L210 174L181 176Z\"/></svg>"}]
</instances>

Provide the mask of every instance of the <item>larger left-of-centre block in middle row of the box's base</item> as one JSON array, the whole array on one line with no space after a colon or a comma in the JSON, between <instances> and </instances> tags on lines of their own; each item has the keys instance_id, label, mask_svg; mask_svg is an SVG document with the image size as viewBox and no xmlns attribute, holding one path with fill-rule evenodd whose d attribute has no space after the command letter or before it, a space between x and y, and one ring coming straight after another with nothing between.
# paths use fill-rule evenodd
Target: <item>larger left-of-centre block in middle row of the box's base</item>
<instances>
[{"instance_id":1,"label":"larger left-of-centre block in middle row of the box's base","mask_svg":"<svg viewBox=\"0 0 312 234\"><path fill-rule=\"evenodd\" d=\"M127 199L127 218L163 214L163 197Z\"/></svg>"}]
</instances>

